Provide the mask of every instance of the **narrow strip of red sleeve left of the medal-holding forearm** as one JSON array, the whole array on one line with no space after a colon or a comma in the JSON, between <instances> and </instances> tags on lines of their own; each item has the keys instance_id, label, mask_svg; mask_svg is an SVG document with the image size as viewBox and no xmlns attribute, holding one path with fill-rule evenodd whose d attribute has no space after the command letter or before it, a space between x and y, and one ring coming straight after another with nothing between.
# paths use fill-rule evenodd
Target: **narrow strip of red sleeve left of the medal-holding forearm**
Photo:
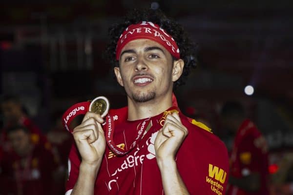
<instances>
[{"instance_id":1,"label":"narrow strip of red sleeve left of the medal-holding forearm","mask_svg":"<svg viewBox=\"0 0 293 195\"><path fill-rule=\"evenodd\" d=\"M77 182L80 164L81 160L79 153L75 144L73 144L68 158L68 179L65 186L66 192L70 192L70 190L73 189L75 183Z\"/></svg>"}]
</instances>

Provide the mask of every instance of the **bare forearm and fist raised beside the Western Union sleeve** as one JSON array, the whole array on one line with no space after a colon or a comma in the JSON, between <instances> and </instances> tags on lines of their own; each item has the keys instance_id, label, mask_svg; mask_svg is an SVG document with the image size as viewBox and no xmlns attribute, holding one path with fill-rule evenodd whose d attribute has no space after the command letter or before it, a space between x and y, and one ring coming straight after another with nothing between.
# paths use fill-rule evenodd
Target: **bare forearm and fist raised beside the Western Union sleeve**
<instances>
[{"instance_id":1,"label":"bare forearm and fist raised beside the Western Union sleeve","mask_svg":"<svg viewBox=\"0 0 293 195\"><path fill-rule=\"evenodd\" d=\"M175 162L175 155L188 134L177 113L168 115L155 140L158 167L165 195L189 195Z\"/></svg>"}]
</instances>

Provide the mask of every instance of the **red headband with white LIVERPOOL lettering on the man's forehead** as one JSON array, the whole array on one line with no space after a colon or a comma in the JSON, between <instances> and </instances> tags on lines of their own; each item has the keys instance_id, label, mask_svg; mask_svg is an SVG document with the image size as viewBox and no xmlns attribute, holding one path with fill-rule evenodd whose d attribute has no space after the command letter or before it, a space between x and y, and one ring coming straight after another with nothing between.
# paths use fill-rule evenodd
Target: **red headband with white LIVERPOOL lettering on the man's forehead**
<instances>
[{"instance_id":1,"label":"red headband with white LIVERPOOL lettering on the man's forehead","mask_svg":"<svg viewBox=\"0 0 293 195\"><path fill-rule=\"evenodd\" d=\"M122 48L131 40L150 39L164 46L170 54L176 58L180 58L179 48L175 40L168 35L158 24L150 21L142 21L138 24L131 24L120 36L116 47L116 60L119 60Z\"/></svg>"}]
</instances>

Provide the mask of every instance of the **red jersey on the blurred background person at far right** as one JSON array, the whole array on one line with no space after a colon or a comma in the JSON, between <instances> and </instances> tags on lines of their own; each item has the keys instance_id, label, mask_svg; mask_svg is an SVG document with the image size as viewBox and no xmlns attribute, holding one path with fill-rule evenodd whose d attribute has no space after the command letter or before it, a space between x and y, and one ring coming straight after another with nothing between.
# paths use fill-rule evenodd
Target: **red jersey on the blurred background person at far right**
<instances>
[{"instance_id":1,"label":"red jersey on the blurred background person at far right","mask_svg":"<svg viewBox=\"0 0 293 195\"><path fill-rule=\"evenodd\" d=\"M267 143L251 120L246 119L238 129L230 157L230 175L236 178L258 173L261 183L257 192L246 192L229 185L227 195L269 195Z\"/></svg>"}]
</instances>

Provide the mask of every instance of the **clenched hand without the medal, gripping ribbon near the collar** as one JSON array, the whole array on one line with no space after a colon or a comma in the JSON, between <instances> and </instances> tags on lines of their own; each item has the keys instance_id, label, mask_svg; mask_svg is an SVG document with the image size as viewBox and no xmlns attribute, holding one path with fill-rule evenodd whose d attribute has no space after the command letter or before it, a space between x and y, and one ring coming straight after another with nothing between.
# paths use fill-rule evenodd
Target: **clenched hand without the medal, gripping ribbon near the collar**
<instances>
[{"instance_id":1,"label":"clenched hand without the medal, gripping ribbon near the collar","mask_svg":"<svg viewBox=\"0 0 293 195\"><path fill-rule=\"evenodd\" d=\"M168 115L155 139L157 162L175 160L175 155L187 135L188 129L182 124L179 115Z\"/></svg>"}]
</instances>

